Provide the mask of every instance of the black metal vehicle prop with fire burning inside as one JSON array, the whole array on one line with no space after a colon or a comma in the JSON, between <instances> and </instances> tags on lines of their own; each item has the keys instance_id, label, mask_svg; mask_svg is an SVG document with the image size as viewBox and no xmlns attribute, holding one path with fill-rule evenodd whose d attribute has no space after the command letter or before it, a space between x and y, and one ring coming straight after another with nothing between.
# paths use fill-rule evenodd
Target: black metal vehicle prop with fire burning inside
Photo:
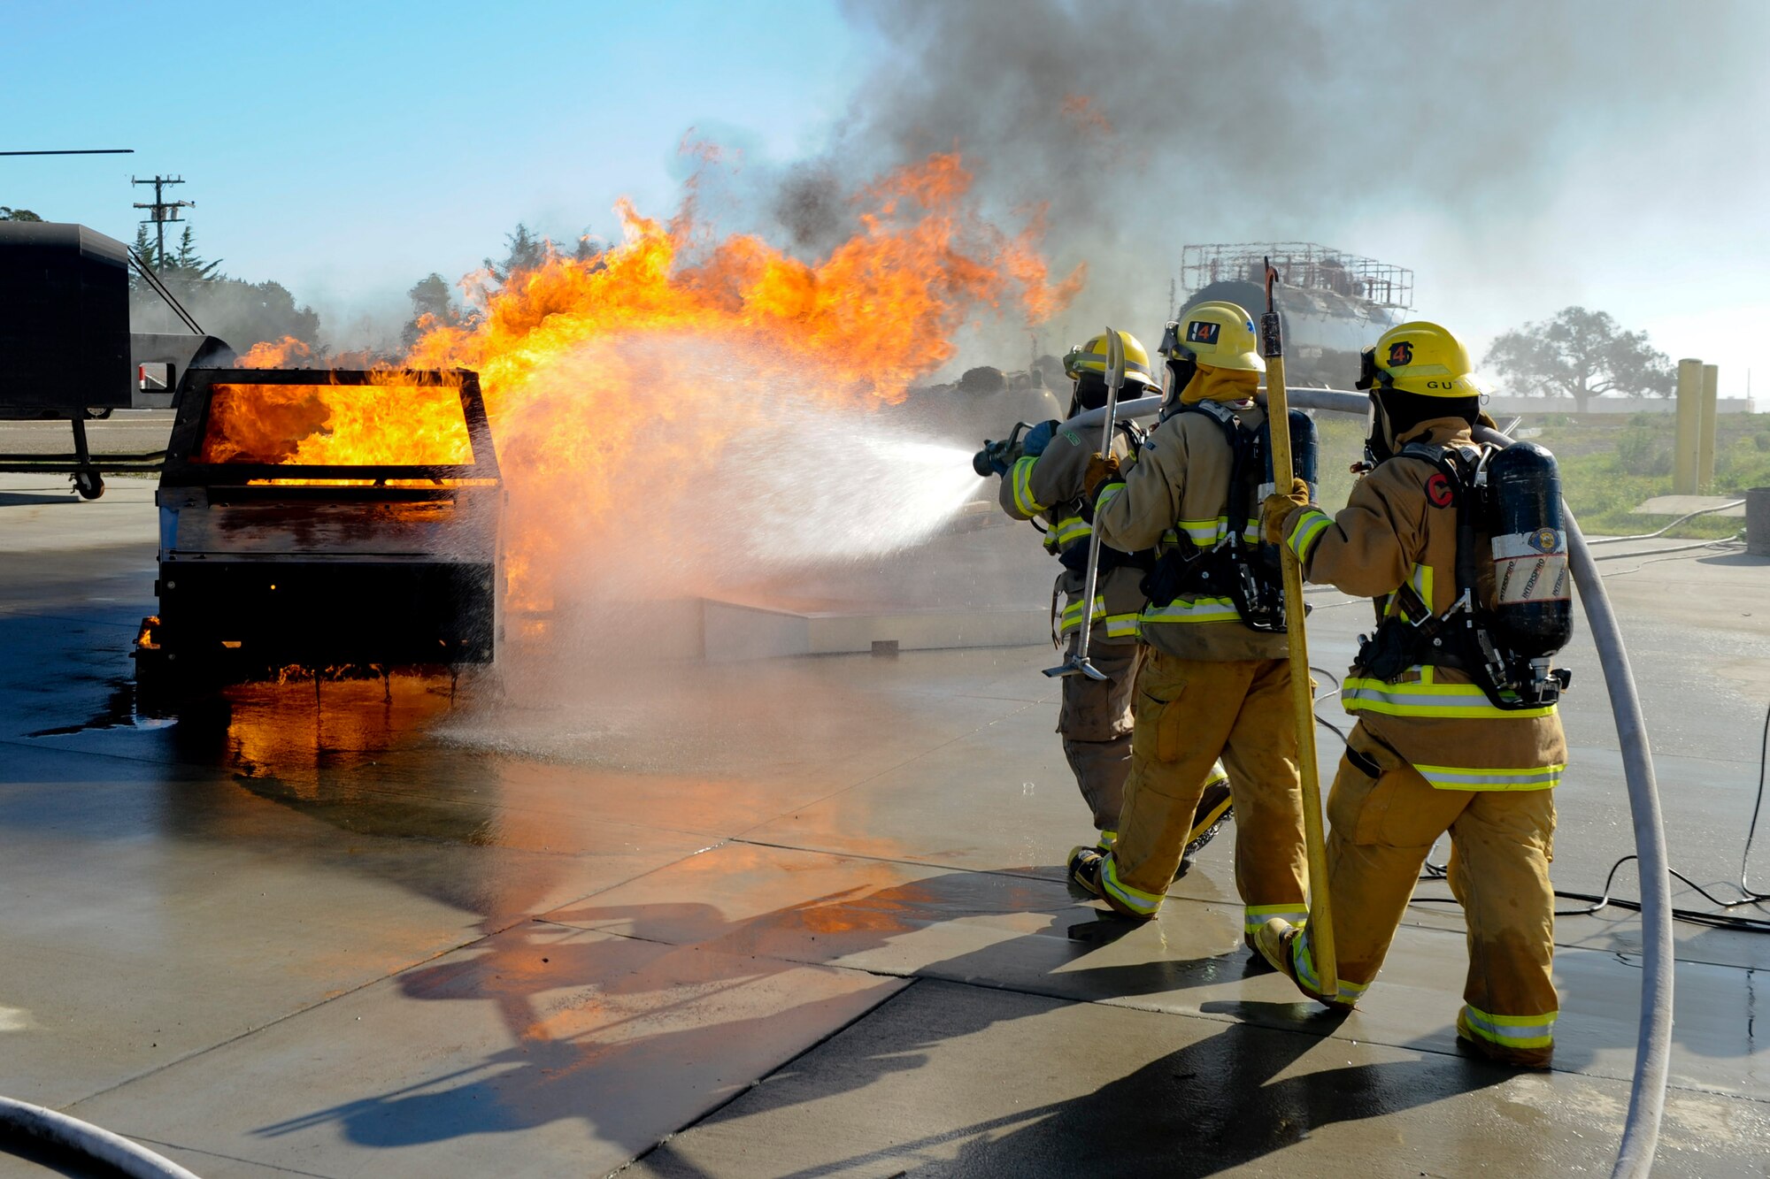
<instances>
[{"instance_id":1,"label":"black metal vehicle prop with fire burning inside","mask_svg":"<svg viewBox=\"0 0 1770 1179\"><path fill-rule=\"evenodd\" d=\"M492 662L503 494L473 372L189 370L142 694Z\"/></svg>"}]
</instances>

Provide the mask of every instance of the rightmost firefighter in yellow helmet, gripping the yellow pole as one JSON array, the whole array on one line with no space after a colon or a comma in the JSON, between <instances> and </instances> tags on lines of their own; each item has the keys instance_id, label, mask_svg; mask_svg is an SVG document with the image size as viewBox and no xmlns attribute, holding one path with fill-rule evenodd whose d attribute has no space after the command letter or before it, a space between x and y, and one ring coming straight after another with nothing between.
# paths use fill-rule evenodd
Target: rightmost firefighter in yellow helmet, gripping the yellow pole
<instances>
[{"instance_id":1,"label":"rightmost firefighter in yellow helmet, gripping the yellow pole","mask_svg":"<svg viewBox=\"0 0 1770 1179\"><path fill-rule=\"evenodd\" d=\"M1319 991L1308 928L1274 921L1257 944L1304 993L1356 1004L1448 830L1450 887L1469 922L1457 1034L1485 1057L1540 1067L1558 1009L1551 788L1566 763L1556 715L1566 678L1549 667L1547 648L1566 632L1520 651L1497 611L1559 611L1570 630L1566 549L1554 528L1492 535L1481 505L1504 494L1487 490L1499 467L1512 471L1513 458L1554 467L1531 444L1494 451L1473 441L1480 389L1469 368L1444 328L1391 328L1365 352L1359 379L1372 393L1370 474L1335 517L1301 487L1267 499L1267 536L1290 545L1310 581L1375 598L1379 621L1342 690L1358 724L1328 798L1338 993ZM1487 478L1473 478L1478 471ZM1531 551L1513 552L1510 540ZM1508 575L1501 595L1496 556L1508 574L1526 558L1535 577Z\"/></svg>"}]
</instances>

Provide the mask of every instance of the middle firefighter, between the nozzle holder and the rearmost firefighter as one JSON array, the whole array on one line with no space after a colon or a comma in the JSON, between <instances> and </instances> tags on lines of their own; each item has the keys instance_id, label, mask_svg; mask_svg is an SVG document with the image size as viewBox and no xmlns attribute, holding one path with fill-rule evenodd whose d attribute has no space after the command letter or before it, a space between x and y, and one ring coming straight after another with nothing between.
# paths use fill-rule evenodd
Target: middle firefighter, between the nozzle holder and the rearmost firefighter
<instances>
[{"instance_id":1,"label":"middle firefighter, between the nozzle holder and the rearmost firefighter","mask_svg":"<svg viewBox=\"0 0 1770 1179\"><path fill-rule=\"evenodd\" d=\"M1174 381L1161 421L1133 466L1113 471L1101 458L1087 487L1103 545L1156 547L1159 558L1138 621L1147 651L1119 839L1106 852L1073 850L1069 885L1124 915L1154 917L1221 758L1251 945L1267 919L1304 919L1308 862L1290 666L1271 614L1281 590L1258 543L1266 476L1248 458L1266 421L1253 400L1266 361L1234 303L1188 308L1163 351ZM1257 593L1235 586L1244 574Z\"/></svg>"}]
</instances>

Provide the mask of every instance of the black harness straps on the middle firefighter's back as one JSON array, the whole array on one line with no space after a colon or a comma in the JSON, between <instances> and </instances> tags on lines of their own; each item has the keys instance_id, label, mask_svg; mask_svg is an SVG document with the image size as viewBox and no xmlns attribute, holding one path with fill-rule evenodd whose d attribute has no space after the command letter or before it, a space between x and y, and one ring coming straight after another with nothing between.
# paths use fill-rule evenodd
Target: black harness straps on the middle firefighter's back
<instances>
[{"instance_id":1,"label":"black harness straps on the middle firefighter's back","mask_svg":"<svg viewBox=\"0 0 1770 1179\"><path fill-rule=\"evenodd\" d=\"M1170 605L1182 593L1228 597L1241 621L1253 630L1283 634L1285 584L1278 549L1248 540L1248 520L1260 501L1266 482L1269 435L1250 430L1241 416L1221 402L1181 405L1175 412L1197 412L1223 427L1234 460L1228 476L1228 505L1223 533L1211 547L1191 542L1184 533L1161 554L1143 579L1150 605Z\"/></svg>"}]
</instances>

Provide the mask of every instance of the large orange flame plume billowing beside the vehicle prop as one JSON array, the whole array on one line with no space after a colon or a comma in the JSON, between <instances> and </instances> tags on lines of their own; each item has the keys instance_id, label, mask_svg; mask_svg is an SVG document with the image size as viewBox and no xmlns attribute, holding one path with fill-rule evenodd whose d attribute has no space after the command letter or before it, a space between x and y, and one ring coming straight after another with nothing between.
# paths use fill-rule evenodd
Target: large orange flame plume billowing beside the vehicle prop
<instances>
[{"instance_id":1,"label":"large orange flame plume billowing beside the vehicle prop","mask_svg":"<svg viewBox=\"0 0 1770 1179\"><path fill-rule=\"evenodd\" d=\"M469 280L478 312L430 324L405 365L481 375L510 490L508 604L550 609L566 584L600 597L703 591L717 566L743 565L733 547L745 547L754 505L719 489L722 464L754 455L758 432L777 430L779 448L843 478L839 457L820 457L816 430L789 427L781 405L841 416L901 402L954 358L968 322L1062 310L1083 274L1053 281L1039 216L1018 232L993 225L968 202L970 181L958 154L874 181L851 196L858 232L809 262L758 235L717 237L690 188L669 221L623 202L623 241L589 260L549 253L501 285ZM312 414L308 393L283 412ZM381 425L427 428L398 411ZM349 462L336 432L299 423L296 437L296 462Z\"/></svg>"}]
</instances>

